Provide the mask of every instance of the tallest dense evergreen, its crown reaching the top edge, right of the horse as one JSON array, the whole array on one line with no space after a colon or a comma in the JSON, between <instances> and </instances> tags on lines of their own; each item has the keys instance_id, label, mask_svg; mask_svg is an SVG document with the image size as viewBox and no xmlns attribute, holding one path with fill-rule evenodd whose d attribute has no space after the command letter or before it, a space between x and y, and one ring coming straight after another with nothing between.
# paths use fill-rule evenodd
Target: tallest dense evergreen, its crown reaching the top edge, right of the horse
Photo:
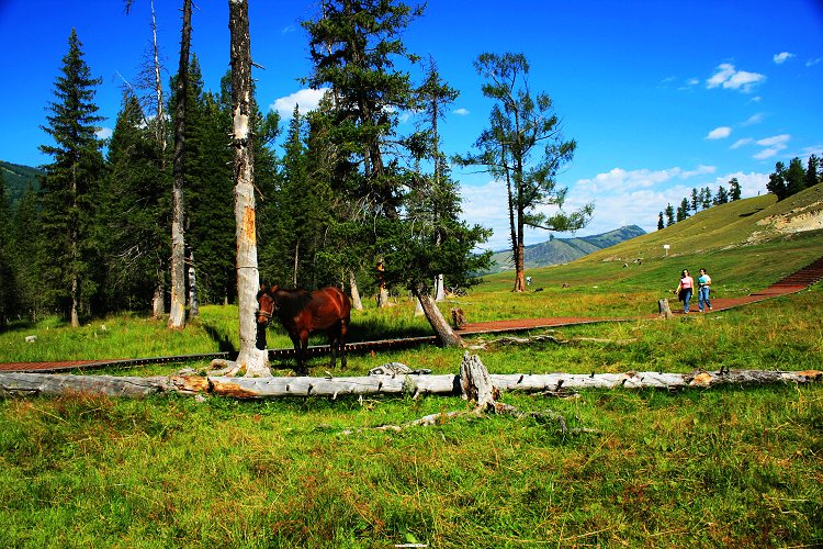
<instances>
[{"instance_id":1,"label":"tallest dense evergreen, its crown reaching the top edge, right of the horse","mask_svg":"<svg viewBox=\"0 0 823 549\"><path fill-rule=\"evenodd\" d=\"M313 61L305 81L330 87L325 138L335 149L335 191L348 202L350 222L340 228L350 240L371 242L372 265L382 251L373 248L369 220L398 220L407 182L396 130L415 97L409 74L396 67L417 61L399 36L421 13L399 0L328 0L317 20L304 23ZM387 305L382 285L379 304Z\"/></svg>"}]
</instances>

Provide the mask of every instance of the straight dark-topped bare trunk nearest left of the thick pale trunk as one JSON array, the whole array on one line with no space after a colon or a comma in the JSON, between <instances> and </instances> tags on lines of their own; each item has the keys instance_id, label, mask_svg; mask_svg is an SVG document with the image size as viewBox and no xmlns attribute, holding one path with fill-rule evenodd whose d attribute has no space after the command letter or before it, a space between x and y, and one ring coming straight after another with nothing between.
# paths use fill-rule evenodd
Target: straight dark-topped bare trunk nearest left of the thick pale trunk
<instances>
[{"instance_id":1,"label":"straight dark-topped bare trunk nearest left of the thick pale trunk","mask_svg":"<svg viewBox=\"0 0 823 549\"><path fill-rule=\"evenodd\" d=\"M171 304L170 328L185 326L185 237L183 235L183 157L185 155L185 96L189 87L191 0L183 0L183 30L174 97L174 181L171 191Z\"/></svg>"}]
</instances>

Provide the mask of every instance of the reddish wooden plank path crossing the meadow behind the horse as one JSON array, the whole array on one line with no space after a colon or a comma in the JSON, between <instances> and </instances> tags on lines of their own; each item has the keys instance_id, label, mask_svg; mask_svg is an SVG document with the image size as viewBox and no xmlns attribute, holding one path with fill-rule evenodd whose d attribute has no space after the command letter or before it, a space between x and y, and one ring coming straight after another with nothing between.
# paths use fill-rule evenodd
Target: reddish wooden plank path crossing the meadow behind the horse
<instances>
[{"instance_id":1,"label":"reddish wooden plank path crossing the meadow behind the horse","mask_svg":"<svg viewBox=\"0 0 823 549\"><path fill-rule=\"evenodd\" d=\"M785 277L774 284L759 290L749 295L742 298L712 298L712 313L719 311L726 311L729 309L756 303L767 299L776 298L778 295L788 295L791 293L800 292L811 284L814 284L823 280L823 257L816 259L810 265L803 267ZM700 314L697 312L697 296L692 298L695 303L695 312L690 314ZM674 311L674 314L684 314L683 310ZM657 314L650 314L642 318L656 318ZM559 326L575 326L583 324L596 324L601 322L630 322L636 321L638 317L580 317L580 316L559 316L551 318L516 318L509 321L493 321L493 322L478 322L469 323L458 329L458 334L461 336L467 335L482 335L482 334L495 334L504 332L523 332L529 329L539 328L552 328ZM391 349L404 349L410 348L418 345L433 345L437 343L435 336L403 338L403 339L386 339L380 341L356 341L346 345L347 352L370 352L372 350L391 350ZM328 345L317 345L308 348L309 356L318 356L329 352ZM270 358L289 358L295 354L293 348L282 349L269 349ZM204 355L187 355L179 357L154 357L154 358L135 358L135 359L117 359L117 360L65 360L65 361L50 361L50 362L7 362L0 363L0 371L14 371L14 372L65 372L83 369L98 369L104 367L115 368L134 368L143 365L150 363L170 363L170 362L188 362L195 360L211 360L214 358L229 358L229 352L213 352Z\"/></svg>"}]
</instances>

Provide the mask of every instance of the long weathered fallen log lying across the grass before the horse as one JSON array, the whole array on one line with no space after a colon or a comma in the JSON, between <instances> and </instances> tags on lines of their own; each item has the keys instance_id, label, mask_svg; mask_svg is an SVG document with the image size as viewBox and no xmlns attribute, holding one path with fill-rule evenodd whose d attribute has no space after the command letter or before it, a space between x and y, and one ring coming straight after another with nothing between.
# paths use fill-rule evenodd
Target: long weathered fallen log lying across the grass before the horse
<instances>
[{"instance_id":1,"label":"long weathered fallen log lying across the grass before the horse","mask_svg":"<svg viewBox=\"0 0 823 549\"><path fill-rule=\"evenodd\" d=\"M202 376L119 377L52 373L0 373L0 397L100 393L110 396L142 397L151 394L203 394L237 399L284 396L370 396L377 394L414 396L461 394L460 376L395 374L325 378L228 378ZM680 389L719 385L765 385L820 383L823 371L698 370L690 373L514 373L489 374L498 391L544 392L564 389Z\"/></svg>"}]
</instances>

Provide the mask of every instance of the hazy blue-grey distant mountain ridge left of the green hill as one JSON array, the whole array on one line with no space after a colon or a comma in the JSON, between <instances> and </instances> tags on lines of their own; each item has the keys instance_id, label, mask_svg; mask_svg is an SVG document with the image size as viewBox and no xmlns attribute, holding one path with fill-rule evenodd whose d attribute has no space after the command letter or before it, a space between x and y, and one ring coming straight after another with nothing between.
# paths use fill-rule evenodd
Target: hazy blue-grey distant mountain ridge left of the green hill
<instances>
[{"instance_id":1,"label":"hazy blue-grey distant mountain ridge left of the green hill","mask_svg":"<svg viewBox=\"0 0 823 549\"><path fill-rule=\"evenodd\" d=\"M593 251L608 248L609 246L644 234L646 232L638 225L628 225L599 235L582 236L579 238L552 238L544 243L527 246L523 262L526 264L526 268L567 264ZM511 251L497 251L492 256L492 268L488 272L499 272L514 268Z\"/></svg>"}]
</instances>

